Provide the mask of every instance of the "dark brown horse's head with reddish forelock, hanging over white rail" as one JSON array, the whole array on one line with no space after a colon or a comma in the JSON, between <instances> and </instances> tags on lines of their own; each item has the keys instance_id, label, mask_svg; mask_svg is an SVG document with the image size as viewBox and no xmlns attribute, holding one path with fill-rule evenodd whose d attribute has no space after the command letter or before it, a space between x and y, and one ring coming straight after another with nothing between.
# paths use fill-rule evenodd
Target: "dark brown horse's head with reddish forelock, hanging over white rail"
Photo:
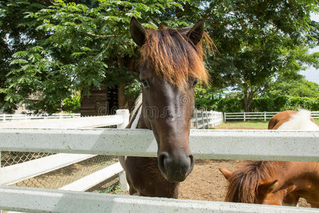
<instances>
[{"instance_id":1,"label":"dark brown horse's head with reddish forelock, hanging over white rail","mask_svg":"<svg viewBox=\"0 0 319 213\"><path fill-rule=\"evenodd\" d=\"M203 65L203 20L192 28L145 31L132 18L130 33L142 48L140 122L155 135L158 168L169 182L181 182L191 173L194 157L189 150L194 87L208 81Z\"/></svg>"}]
</instances>

